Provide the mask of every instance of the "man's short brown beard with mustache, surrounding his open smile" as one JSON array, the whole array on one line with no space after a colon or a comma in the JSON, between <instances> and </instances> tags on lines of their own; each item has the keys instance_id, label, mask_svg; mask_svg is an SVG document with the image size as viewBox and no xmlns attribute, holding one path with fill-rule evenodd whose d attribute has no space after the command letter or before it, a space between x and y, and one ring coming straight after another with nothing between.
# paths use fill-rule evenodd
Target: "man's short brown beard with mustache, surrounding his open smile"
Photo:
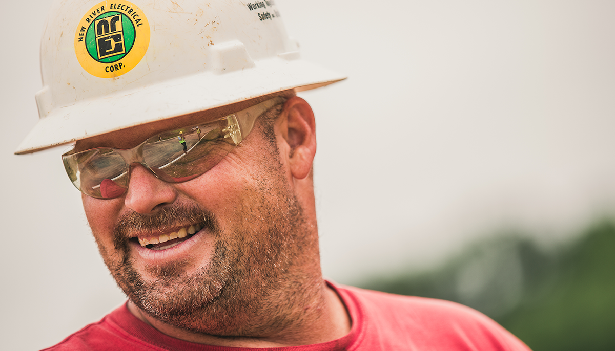
<instances>
[{"instance_id":1,"label":"man's short brown beard with mustache, surrounding his open smile","mask_svg":"<svg viewBox=\"0 0 615 351\"><path fill-rule=\"evenodd\" d=\"M119 287L141 311L184 330L218 336L260 336L300 322L284 312L306 299L292 268L301 250L314 247L314 239L282 165L269 164L253 175L254 187L244 188L230 223L221 225L197 204L175 203L153 214L130 212L117 222L114 253L100 243L99 249ZM205 235L213 236L209 264L191 273L186 267L194 257L146 266L146 279L131 258L127 234L183 223L204 223Z\"/></svg>"}]
</instances>

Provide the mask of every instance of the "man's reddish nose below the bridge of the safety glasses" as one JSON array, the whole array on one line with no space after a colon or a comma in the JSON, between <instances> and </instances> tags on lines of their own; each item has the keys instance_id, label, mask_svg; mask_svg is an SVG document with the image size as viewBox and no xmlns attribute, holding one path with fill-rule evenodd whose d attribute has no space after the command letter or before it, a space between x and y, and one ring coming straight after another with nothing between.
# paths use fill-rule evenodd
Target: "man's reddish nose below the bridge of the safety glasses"
<instances>
[{"instance_id":1,"label":"man's reddish nose below the bridge of the safety glasses","mask_svg":"<svg viewBox=\"0 0 615 351\"><path fill-rule=\"evenodd\" d=\"M177 198L171 183L158 179L142 164L130 166L130 182L124 199L129 209L140 214L154 212L165 204L172 204Z\"/></svg>"}]
</instances>

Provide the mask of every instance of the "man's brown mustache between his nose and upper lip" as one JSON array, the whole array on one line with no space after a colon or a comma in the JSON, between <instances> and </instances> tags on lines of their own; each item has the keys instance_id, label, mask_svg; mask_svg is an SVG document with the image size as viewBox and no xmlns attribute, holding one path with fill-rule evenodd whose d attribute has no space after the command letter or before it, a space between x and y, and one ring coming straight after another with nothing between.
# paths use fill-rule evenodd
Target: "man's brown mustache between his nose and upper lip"
<instances>
[{"instance_id":1,"label":"man's brown mustache between his nose and upper lip","mask_svg":"<svg viewBox=\"0 0 615 351\"><path fill-rule=\"evenodd\" d=\"M113 229L113 242L117 250L127 253L130 233L135 231L164 231L186 223L200 223L210 233L218 233L218 224L213 214L197 205L173 205L162 207L153 214L129 212L122 215Z\"/></svg>"}]
</instances>

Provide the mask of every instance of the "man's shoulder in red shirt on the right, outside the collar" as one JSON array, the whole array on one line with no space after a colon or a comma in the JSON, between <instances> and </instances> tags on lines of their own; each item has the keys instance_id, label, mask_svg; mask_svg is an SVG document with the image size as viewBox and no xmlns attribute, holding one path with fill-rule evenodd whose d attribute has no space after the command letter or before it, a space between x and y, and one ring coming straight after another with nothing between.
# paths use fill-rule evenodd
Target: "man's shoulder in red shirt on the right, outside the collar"
<instances>
[{"instance_id":1,"label":"man's shoulder in red shirt on the right, outside the collar","mask_svg":"<svg viewBox=\"0 0 615 351\"><path fill-rule=\"evenodd\" d=\"M343 299L355 304L365 334L416 349L529 350L486 315L451 301L403 296L337 286ZM410 349L413 349L412 347Z\"/></svg>"}]
</instances>

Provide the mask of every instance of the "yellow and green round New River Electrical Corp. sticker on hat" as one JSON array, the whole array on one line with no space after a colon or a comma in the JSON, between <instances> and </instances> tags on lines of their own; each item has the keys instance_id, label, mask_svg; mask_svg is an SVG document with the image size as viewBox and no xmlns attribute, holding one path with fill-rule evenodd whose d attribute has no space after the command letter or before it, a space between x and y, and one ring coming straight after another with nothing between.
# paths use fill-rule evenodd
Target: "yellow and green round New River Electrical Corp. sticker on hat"
<instances>
[{"instance_id":1,"label":"yellow and green round New River Electrical Corp. sticker on hat","mask_svg":"<svg viewBox=\"0 0 615 351\"><path fill-rule=\"evenodd\" d=\"M75 53L81 67L100 78L133 69L148 51L149 23L128 1L102 1L81 18L75 33Z\"/></svg>"}]
</instances>

